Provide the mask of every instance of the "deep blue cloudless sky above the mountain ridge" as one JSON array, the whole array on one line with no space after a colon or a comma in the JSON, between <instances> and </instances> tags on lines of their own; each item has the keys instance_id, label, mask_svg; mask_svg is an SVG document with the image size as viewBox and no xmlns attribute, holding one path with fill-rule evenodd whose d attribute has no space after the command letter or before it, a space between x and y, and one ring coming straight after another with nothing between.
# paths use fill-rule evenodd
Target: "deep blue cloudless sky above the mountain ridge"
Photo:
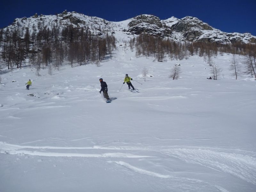
<instances>
[{"instance_id":1,"label":"deep blue cloudless sky above the mountain ridge","mask_svg":"<svg viewBox=\"0 0 256 192\"><path fill-rule=\"evenodd\" d=\"M256 0L2 0L0 28L16 18L37 14L50 15L64 10L97 16L109 21L122 21L140 14L153 14L160 19L172 16L194 16L224 32L249 32L256 36Z\"/></svg>"}]
</instances>

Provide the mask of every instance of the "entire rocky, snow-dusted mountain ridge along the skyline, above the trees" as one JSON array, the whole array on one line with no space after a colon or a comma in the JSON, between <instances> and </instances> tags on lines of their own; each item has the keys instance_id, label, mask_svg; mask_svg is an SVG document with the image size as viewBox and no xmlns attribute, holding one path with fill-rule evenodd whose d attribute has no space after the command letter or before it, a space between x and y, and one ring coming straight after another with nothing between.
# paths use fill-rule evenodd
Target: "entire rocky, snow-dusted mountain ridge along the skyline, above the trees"
<instances>
[{"instance_id":1,"label":"entire rocky, snow-dusted mountain ridge along the skyline, above the trees","mask_svg":"<svg viewBox=\"0 0 256 192\"><path fill-rule=\"evenodd\" d=\"M121 23L125 23L125 25L121 25ZM17 18L12 25L4 30L9 29L12 31L17 28L20 28L20 30L29 28L30 33L32 33L33 31L38 31L40 27L52 28L52 26L58 26L60 28L64 26L89 28L92 34L95 35L102 35L104 31L112 34L121 31L126 35L138 35L145 32L154 36L166 37L174 41L256 43L256 36L252 36L250 33L222 32L195 17L189 16L182 19L171 17L167 20L160 20L156 16L140 15L125 21L111 22L97 17L86 16L82 13L67 12L65 10L58 15L38 16L35 14L29 18Z\"/></svg>"}]
</instances>

